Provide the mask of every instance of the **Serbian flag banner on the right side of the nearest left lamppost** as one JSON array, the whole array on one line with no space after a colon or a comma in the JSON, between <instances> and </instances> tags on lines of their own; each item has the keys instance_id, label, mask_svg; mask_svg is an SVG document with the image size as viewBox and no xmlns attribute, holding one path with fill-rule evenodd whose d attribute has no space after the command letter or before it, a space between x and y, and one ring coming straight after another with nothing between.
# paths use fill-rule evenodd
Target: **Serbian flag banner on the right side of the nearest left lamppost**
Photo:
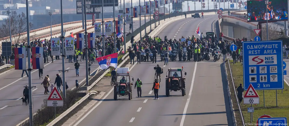
<instances>
[{"instance_id":1,"label":"Serbian flag banner on the right side of the nearest left lamppost","mask_svg":"<svg viewBox=\"0 0 289 126\"><path fill-rule=\"evenodd\" d=\"M43 47L32 47L32 69L44 69Z\"/></svg>"}]
</instances>

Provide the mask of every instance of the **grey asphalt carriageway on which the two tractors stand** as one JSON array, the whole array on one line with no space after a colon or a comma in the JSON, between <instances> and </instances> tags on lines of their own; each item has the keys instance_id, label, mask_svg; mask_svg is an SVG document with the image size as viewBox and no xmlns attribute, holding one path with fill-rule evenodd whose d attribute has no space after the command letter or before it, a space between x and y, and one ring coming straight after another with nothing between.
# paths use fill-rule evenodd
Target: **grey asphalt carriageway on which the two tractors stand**
<instances>
[{"instance_id":1,"label":"grey asphalt carriageway on which the two tractors stand","mask_svg":"<svg viewBox=\"0 0 289 126\"><path fill-rule=\"evenodd\" d=\"M158 36L168 39L179 39L181 36L194 35L200 26L200 32L212 31L211 24L217 16L187 18L168 24ZM232 116L227 95L227 84L223 70L223 62L142 62L130 66L130 75L136 81L142 81L142 98L137 98L133 89L133 99L113 100L113 89L105 93L102 100L95 104L86 115L76 121L74 126L232 126ZM221 61L221 60L220 60ZM159 64L164 73L161 75L159 100L153 100L152 89L155 71ZM170 97L165 96L165 76L168 68L184 66L186 75L186 96L172 91ZM184 72L183 72L184 74ZM109 83L109 82L108 82ZM134 82L135 83L135 82Z\"/></svg>"}]
</instances>

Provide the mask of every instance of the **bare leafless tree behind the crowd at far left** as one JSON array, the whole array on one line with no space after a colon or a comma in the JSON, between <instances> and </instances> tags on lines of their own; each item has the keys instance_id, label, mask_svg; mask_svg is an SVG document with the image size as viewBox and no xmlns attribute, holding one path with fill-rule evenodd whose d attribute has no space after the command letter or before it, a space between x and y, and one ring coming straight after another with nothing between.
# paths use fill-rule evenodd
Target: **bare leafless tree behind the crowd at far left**
<instances>
[{"instance_id":1,"label":"bare leafless tree behind the crowd at far left","mask_svg":"<svg viewBox=\"0 0 289 126\"><path fill-rule=\"evenodd\" d=\"M23 40L23 38L27 37L27 34L21 35L21 33L27 31L26 15L23 12L21 14L17 14L16 11L12 11L10 13L10 24L12 42L18 43L19 41ZM33 24L31 22L29 22L29 28L30 30L33 29ZM0 38L10 36L9 19L4 20L4 23L0 26L0 31Z\"/></svg>"}]
</instances>

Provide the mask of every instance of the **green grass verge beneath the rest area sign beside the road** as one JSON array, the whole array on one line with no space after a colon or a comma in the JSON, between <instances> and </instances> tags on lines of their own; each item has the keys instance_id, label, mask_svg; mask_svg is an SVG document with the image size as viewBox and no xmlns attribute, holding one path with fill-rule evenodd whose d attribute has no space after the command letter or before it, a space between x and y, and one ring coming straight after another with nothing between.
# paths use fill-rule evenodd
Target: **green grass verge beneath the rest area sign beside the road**
<instances>
[{"instance_id":1,"label":"green grass verge beneath the rest area sign beside the road","mask_svg":"<svg viewBox=\"0 0 289 126\"><path fill-rule=\"evenodd\" d=\"M231 70L235 86L238 86L240 83L243 84L243 66L240 62L233 64L233 60L230 60ZM228 66L227 66L228 67ZM229 74L229 73L228 73ZM253 104L255 109L253 113L253 122L256 122L257 119L264 114L268 114L272 117L289 117L289 87L284 83L283 93L282 90L277 90L277 102L278 107L276 107L276 90L265 90L265 108L264 108L264 96L263 90L256 90L260 97L260 104ZM244 92L245 93L245 92ZM247 108L250 107L250 104L241 103L241 109L245 119L245 123L250 123L250 113L247 113Z\"/></svg>"}]
</instances>

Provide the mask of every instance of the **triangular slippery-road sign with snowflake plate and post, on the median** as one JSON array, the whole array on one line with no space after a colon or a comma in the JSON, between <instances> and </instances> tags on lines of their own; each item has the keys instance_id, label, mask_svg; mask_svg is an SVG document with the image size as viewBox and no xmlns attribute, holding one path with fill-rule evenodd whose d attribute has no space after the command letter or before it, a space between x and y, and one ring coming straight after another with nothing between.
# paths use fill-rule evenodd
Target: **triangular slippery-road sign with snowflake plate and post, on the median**
<instances>
[{"instance_id":1,"label":"triangular slippery-road sign with snowflake plate and post, on the median","mask_svg":"<svg viewBox=\"0 0 289 126\"><path fill-rule=\"evenodd\" d=\"M54 119L56 118L56 107L63 106L63 98L56 89L56 87L53 88L51 91L49 97L47 98L47 106L54 107Z\"/></svg>"}]
</instances>

